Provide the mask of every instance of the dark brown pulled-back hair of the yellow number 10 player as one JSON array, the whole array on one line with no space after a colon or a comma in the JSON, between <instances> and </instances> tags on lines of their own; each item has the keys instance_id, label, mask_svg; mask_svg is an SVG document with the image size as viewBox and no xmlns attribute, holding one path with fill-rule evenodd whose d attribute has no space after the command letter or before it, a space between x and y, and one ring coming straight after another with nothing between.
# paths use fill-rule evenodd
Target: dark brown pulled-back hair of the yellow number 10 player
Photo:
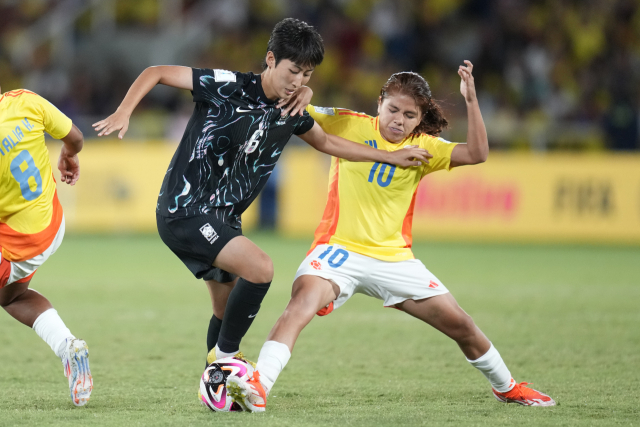
<instances>
[{"instance_id":1,"label":"dark brown pulled-back hair of the yellow number 10 player","mask_svg":"<svg viewBox=\"0 0 640 427\"><path fill-rule=\"evenodd\" d=\"M438 136L449 126L442 109L431 98L429 83L420 74L411 71L393 74L382 86L380 98L384 101L388 96L397 93L412 97L422 112L420 124L411 132L412 136L424 133Z\"/></svg>"}]
</instances>

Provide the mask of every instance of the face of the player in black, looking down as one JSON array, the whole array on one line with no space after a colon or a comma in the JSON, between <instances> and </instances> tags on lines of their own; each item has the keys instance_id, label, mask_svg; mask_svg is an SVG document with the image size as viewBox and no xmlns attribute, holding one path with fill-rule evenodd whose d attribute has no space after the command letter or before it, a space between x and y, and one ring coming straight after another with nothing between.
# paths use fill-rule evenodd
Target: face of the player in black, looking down
<instances>
[{"instance_id":1,"label":"face of the player in black, looking down","mask_svg":"<svg viewBox=\"0 0 640 427\"><path fill-rule=\"evenodd\" d=\"M312 67L298 65L289 59L281 60L277 66L275 62L273 53L268 52L266 71L271 93L267 93L267 96L273 97L272 99L289 98L300 86L307 84L314 70Z\"/></svg>"}]
</instances>

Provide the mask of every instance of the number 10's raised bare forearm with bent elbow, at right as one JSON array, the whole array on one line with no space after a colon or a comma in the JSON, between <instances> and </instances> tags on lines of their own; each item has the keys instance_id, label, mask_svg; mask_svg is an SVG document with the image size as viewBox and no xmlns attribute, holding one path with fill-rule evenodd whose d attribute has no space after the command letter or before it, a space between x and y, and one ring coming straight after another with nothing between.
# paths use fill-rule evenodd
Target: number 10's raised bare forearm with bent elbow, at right
<instances>
[{"instance_id":1,"label":"number 10's raised bare forearm with bent elbow, at right","mask_svg":"<svg viewBox=\"0 0 640 427\"><path fill-rule=\"evenodd\" d=\"M487 129L482 120L478 98L476 96L476 86L473 80L473 64L464 61L466 65L458 68L460 81L460 93L464 96L467 104L467 143L458 144L451 152L451 167L475 165L483 163L489 156L489 140L487 139Z\"/></svg>"}]
</instances>

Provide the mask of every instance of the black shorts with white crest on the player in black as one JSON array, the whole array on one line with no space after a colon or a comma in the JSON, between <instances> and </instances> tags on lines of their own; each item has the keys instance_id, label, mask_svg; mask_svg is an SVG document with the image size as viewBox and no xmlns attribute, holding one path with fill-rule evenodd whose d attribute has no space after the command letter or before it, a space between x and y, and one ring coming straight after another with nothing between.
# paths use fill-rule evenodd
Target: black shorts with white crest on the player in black
<instances>
[{"instance_id":1,"label":"black shorts with white crest on the player in black","mask_svg":"<svg viewBox=\"0 0 640 427\"><path fill-rule=\"evenodd\" d=\"M242 229L233 228L215 215L164 217L156 214L158 233L165 245L198 279L231 282L235 274L213 266L222 248Z\"/></svg>"}]
</instances>

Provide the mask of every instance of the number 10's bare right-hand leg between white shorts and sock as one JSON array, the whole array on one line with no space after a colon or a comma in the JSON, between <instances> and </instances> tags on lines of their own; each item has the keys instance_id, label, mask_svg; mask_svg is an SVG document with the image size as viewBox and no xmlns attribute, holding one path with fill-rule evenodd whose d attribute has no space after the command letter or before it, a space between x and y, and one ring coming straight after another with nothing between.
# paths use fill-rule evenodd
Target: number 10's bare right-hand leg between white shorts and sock
<instances>
[{"instance_id":1,"label":"number 10's bare right-hand leg between white shorts and sock","mask_svg":"<svg viewBox=\"0 0 640 427\"><path fill-rule=\"evenodd\" d=\"M453 339L469 360L478 359L491 347L491 342L471 316L449 293L418 301L407 300L397 307Z\"/></svg>"}]
</instances>

